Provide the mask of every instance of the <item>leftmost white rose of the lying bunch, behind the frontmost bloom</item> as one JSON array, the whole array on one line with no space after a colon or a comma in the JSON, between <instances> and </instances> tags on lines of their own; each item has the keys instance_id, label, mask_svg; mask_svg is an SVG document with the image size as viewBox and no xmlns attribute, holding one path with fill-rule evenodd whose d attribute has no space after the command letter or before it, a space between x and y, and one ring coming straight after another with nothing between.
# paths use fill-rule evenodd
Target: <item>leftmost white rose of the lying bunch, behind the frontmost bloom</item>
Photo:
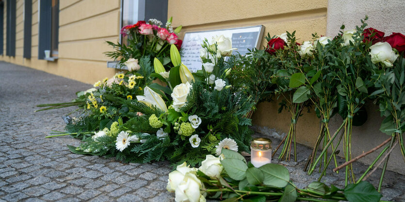
<instances>
[{"instance_id":1,"label":"leftmost white rose of the lying bunch, behind the frontmost bloom","mask_svg":"<svg viewBox=\"0 0 405 202\"><path fill-rule=\"evenodd\" d=\"M167 180L167 186L166 189L169 192L174 192L180 182L183 181L184 175L186 173L197 173L196 168L190 168L190 166L187 166L186 162L183 162L182 164L178 165L176 168L176 171L173 171L169 173L169 179Z\"/></svg>"}]
</instances>

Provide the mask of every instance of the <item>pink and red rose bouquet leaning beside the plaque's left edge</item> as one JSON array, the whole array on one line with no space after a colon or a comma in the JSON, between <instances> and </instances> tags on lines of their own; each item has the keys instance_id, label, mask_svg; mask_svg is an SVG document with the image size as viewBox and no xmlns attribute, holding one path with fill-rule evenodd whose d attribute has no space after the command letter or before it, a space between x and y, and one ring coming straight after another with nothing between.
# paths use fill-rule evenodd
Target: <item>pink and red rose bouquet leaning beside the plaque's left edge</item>
<instances>
[{"instance_id":1,"label":"pink and red rose bouquet leaning beside the plaque's left edge","mask_svg":"<svg viewBox=\"0 0 405 202\"><path fill-rule=\"evenodd\" d=\"M107 42L113 46L114 50L105 54L118 61L121 68L127 66L130 72L133 71L132 66L125 63L144 56L149 57L150 60L159 58L163 65L168 68L171 66L169 64L169 45L175 44L178 49L181 47L182 41L177 36L181 26L173 30L172 18L166 22L165 28L161 26L161 21L149 19L148 22L138 21L133 25L123 27L120 31L124 39L123 42Z\"/></svg>"}]
</instances>

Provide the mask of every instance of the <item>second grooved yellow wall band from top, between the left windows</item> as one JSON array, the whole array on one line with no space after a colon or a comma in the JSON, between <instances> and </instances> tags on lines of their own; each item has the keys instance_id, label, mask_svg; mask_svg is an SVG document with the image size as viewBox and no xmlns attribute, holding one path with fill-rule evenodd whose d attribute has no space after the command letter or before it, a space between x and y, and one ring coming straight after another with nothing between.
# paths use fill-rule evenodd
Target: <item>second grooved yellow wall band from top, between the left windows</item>
<instances>
[{"instance_id":1,"label":"second grooved yellow wall band from top, between the left windows","mask_svg":"<svg viewBox=\"0 0 405 202\"><path fill-rule=\"evenodd\" d=\"M116 10L111 13L88 18L86 20L66 26L61 26L59 28L59 41L65 42L113 35L118 37L118 19L119 12Z\"/></svg>"}]
</instances>

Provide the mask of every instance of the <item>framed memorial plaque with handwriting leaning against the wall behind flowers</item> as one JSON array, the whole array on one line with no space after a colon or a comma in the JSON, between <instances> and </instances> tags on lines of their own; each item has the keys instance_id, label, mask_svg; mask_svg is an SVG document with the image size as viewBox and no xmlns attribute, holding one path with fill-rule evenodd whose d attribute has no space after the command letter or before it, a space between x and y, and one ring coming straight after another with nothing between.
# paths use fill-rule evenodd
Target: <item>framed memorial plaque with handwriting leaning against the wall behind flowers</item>
<instances>
[{"instance_id":1,"label":"framed memorial plaque with handwriting leaning against the wall behind flowers","mask_svg":"<svg viewBox=\"0 0 405 202\"><path fill-rule=\"evenodd\" d=\"M259 48L264 32L264 26L252 26L232 29L216 29L208 31L187 32L184 34L183 44L181 45L181 61L193 72L201 70L200 48L205 38L211 43L212 37L224 35L232 39L232 47L238 48L232 54L244 55L247 49Z\"/></svg>"}]
</instances>

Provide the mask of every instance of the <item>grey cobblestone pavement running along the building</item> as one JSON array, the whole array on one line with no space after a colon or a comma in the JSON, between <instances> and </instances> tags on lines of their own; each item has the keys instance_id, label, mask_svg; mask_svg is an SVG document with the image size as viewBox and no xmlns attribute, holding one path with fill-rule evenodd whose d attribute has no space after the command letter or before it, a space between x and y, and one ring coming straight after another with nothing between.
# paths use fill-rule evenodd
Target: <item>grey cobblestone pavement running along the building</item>
<instances>
[{"instance_id":1,"label":"grey cobblestone pavement running along the building","mask_svg":"<svg viewBox=\"0 0 405 202\"><path fill-rule=\"evenodd\" d=\"M75 92L90 87L0 62L0 201L174 201L174 194L166 191L169 162L123 164L76 155L66 144L78 146L79 140L45 138L51 130L63 130L61 115L74 108L34 113L35 105L70 101ZM319 173L308 176L302 171L310 149L301 145L298 149L298 162L278 163L286 165L293 182L304 188ZM358 163L356 168L360 173L366 166ZM341 187L343 176L330 172L322 181ZM377 174L369 180L376 185ZM388 172L383 186L383 199L405 201L403 175Z\"/></svg>"}]
</instances>

